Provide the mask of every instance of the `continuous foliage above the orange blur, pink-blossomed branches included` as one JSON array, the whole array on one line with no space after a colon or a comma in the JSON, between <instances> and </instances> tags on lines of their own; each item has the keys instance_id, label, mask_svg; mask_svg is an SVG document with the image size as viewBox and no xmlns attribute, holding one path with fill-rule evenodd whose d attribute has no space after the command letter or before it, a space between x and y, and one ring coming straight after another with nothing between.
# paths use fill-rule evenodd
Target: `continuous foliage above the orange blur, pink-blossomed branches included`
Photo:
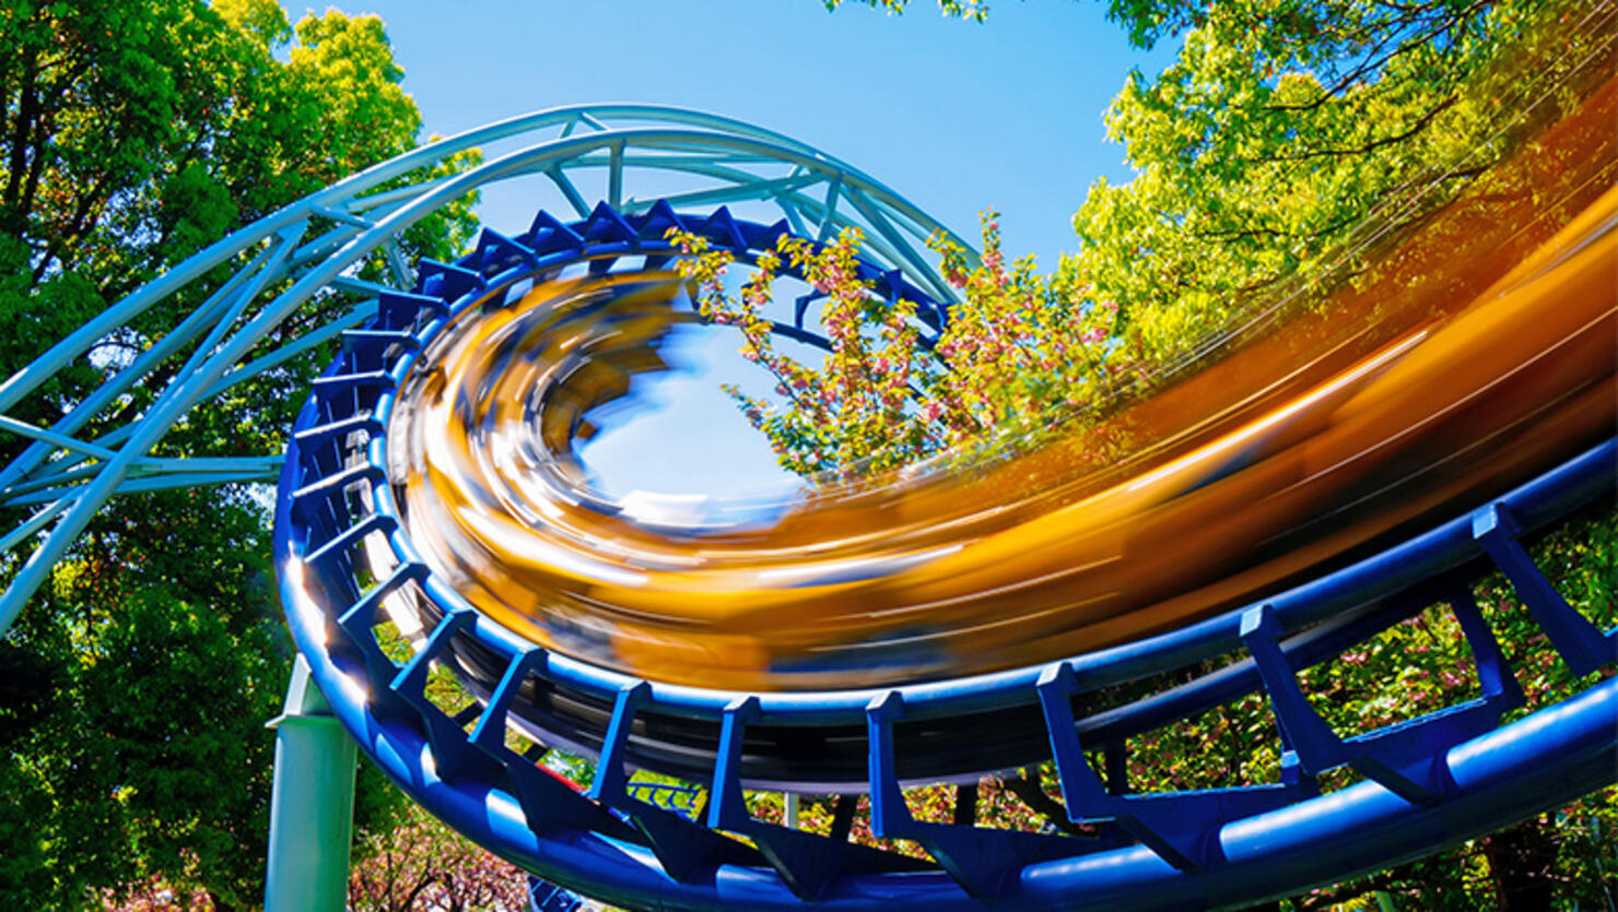
<instances>
[{"instance_id":1,"label":"continuous foliage above the orange blur, pink-blossomed branches included","mask_svg":"<svg viewBox=\"0 0 1618 912\"><path fill-rule=\"evenodd\" d=\"M765 359L786 382L773 398L739 395L785 466L846 474L943 443L1042 435L1171 380L1254 314L1370 281L1380 238L1463 189L1524 194L1547 176L1495 167L1519 146L1524 116L1544 121L1569 103L1563 81L1600 40L1576 27L1584 13L1566 0L1116 0L1108 11L1137 44L1184 39L1160 74L1131 74L1107 113L1134 178L1092 184L1073 220L1076 251L1048 275L1008 260L992 213L981 265L940 243L963 301L925 353L869 288L815 280L832 302L864 301L837 304L856 325L828 327L824 369ZM1480 186L1513 179L1523 186ZM794 264L824 272L848 244L801 249ZM686 267L705 283L709 310L762 327L767 296L731 299L715 265ZM764 353L756 336L748 346ZM879 338L893 341L867 359ZM903 380L921 404L892 403L874 424L859 401L841 398L838 412L794 377L830 390Z\"/></svg>"}]
</instances>

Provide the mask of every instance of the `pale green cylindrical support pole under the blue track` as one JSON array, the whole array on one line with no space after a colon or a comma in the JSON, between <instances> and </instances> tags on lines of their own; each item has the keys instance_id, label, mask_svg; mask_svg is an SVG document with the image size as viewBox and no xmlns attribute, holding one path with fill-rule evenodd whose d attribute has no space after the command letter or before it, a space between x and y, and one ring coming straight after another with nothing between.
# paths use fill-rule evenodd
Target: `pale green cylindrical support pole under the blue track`
<instances>
[{"instance_id":1,"label":"pale green cylindrical support pole under the blue track","mask_svg":"<svg viewBox=\"0 0 1618 912\"><path fill-rule=\"evenodd\" d=\"M303 657L275 729L270 865L264 912L343 912L354 825L354 742Z\"/></svg>"}]
</instances>

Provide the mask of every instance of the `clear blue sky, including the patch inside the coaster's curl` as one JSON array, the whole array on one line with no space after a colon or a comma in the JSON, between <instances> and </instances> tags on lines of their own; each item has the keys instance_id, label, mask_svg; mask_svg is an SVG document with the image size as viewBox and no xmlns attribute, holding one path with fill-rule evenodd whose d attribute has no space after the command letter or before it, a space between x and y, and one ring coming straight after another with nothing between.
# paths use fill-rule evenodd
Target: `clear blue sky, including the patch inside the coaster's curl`
<instances>
[{"instance_id":1,"label":"clear blue sky, including the patch inside the coaster's curl","mask_svg":"<svg viewBox=\"0 0 1618 912\"><path fill-rule=\"evenodd\" d=\"M1002 212L1006 251L1053 265L1099 176L1129 178L1102 113L1131 68L1173 49L1128 47L1099 0L1000 0L984 24L929 0L903 16L819 0L340 2L388 26L427 133L582 102L652 102L736 116L804 139L908 196L966 238ZM288 10L294 18L296 5ZM485 192L495 228L519 201ZM647 391L671 406L586 456L610 488L751 490L778 480L769 451L717 391L714 346ZM717 356L723 361L723 349ZM644 459L650 445L659 459Z\"/></svg>"}]
</instances>

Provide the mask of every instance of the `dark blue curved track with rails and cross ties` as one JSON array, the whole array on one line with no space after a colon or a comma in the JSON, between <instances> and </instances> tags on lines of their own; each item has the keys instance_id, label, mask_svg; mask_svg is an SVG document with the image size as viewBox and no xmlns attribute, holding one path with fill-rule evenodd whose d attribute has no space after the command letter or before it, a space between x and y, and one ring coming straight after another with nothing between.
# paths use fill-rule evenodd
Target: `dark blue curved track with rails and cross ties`
<instances>
[{"instance_id":1,"label":"dark blue curved track with rails and cross ties","mask_svg":"<svg viewBox=\"0 0 1618 912\"><path fill-rule=\"evenodd\" d=\"M485 233L453 264L422 264L413 293L385 293L375 320L345 333L343 354L317 380L288 448L277 501L275 556L299 648L333 713L361 747L429 810L536 875L633 909L1116 909L1259 901L1351 876L1477 836L1610 784L1618 775L1618 681L1500 728L1523 702L1469 585L1502 569L1552 647L1576 673L1618 658L1615 634L1574 611L1529 559L1523 537L1607 496L1618 443L1607 441L1542 477L1400 545L1262 603L1147 640L1042 666L872 690L739 694L673 687L552 653L477 614L429 571L401 532L387 483L385 429L393 391L453 315L493 301L524 277L589 259L660 262L670 226L748 260L785 225L764 226L655 205L621 215L600 205L563 223L540 213L516 238ZM639 268L639 267L637 267ZM896 272L866 278L917 302L937 331L947 312ZM801 312L801 310L799 310ZM801 323L781 327L809 333ZM362 556L380 534L396 558L379 577ZM385 600L408 600L429 623L413 658L390 660L374 627ZM1328 661L1429 605L1448 603L1472 648L1480 697L1383 729L1343 737L1311 708L1298 671ZM1084 697L1204 660L1246 658L1105 713ZM451 718L427 700L434 663L458 668L481 702ZM479 684L481 682L481 684ZM547 718L523 694L542 689L595 707L599 723ZM1281 733L1281 781L1175 794L1128 794L1086 758L1123 766L1125 739L1246 694L1262 692ZM901 783L981 770L942 770L906 754L917 724L1000 713L1021 720L1040 758L1053 758L1063 813L1095 838L1024 833L911 817ZM625 768L657 768L636 724L704 733L705 805L647 792ZM508 723L566 731L597 755L579 791L506 745ZM1010 723L1008 723L1010 724ZM754 818L744 787L760 779L749 733L837 729L864 734L858 781L870 826L919 842L916 862ZM982 734L979 733L979 737ZM746 749L744 749L746 747ZM1362 781L1320 796L1338 768ZM654 789L655 791L655 789ZM966 794L963 791L963 794ZM966 820L971 818L968 813ZM1066 823L1066 821L1065 821ZM733 839L746 836L748 842Z\"/></svg>"}]
</instances>

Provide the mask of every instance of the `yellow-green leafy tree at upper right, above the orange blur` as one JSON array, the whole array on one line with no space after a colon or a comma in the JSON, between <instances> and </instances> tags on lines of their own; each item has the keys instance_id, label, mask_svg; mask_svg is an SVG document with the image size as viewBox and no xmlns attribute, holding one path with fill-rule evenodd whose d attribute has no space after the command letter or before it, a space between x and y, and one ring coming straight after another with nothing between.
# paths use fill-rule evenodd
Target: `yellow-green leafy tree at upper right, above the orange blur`
<instances>
[{"instance_id":1,"label":"yellow-green leafy tree at upper right, above the orange blur","mask_svg":"<svg viewBox=\"0 0 1618 912\"><path fill-rule=\"evenodd\" d=\"M1398 234L1492 173L1542 97L1574 94L1568 66L1599 40L1558 27L1574 11L1115 2L1142 45L1196 27L1173 65L1131 74L1113 100L1107 126L1136 176L1091 188L1063 270L1120 304L1126 354L1152 364L1294 277L1351 273L1356 231Z\"/></svg>"}]
</instances>

